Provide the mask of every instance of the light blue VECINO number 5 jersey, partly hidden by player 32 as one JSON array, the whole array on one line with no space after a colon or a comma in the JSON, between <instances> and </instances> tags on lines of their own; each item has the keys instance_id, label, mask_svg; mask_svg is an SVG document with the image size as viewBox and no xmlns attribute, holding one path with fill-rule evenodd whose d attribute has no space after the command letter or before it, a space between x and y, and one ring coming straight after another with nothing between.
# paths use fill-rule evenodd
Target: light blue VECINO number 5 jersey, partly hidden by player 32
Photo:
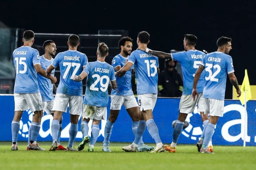
<instances>
[{"instance_id":1,"label":"light blue VECINO number 5 jersey, partly hidden by player 32","mask_svg":"<svg viewBox=\"0 0 256 170\"><path fill-rule=\"evenodd\" d=\"M193 90L193 81L195 73L205 56L204 52L199 50L188 50L184 52L172 53L172 59L179 61L183 75L183 95L191 95ZM204 89L204 71L201 74L198 84L197 92L202 93Z\"/></svg>"}]
</instances>

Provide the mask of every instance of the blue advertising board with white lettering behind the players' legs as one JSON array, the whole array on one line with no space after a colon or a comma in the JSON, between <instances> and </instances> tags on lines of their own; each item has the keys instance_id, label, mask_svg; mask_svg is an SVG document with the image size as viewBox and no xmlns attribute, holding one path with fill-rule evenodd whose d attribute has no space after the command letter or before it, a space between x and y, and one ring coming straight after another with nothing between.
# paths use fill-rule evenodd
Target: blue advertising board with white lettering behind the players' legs
<instances>
[{"instance_id":1,"label":"blue advertising board with white lettering behind the players' legs","mask_svg":"<svg viewBox=\"0 0 256 170\"><path fill-rule=\"evenodd\" d=\"M153 111L155 123L159 130L159 135L163 143L172 142L172 121L177 119L180 99L158 98ZM14 115L14 97L12 95L1 95L0 112L0 141L11 141L11 122ZM107 107L107 118L110 110L110 99ZM67 110L69 112L69 109ZM245 120L244 107L238 100L225 100L224 116L218 120L214 135L212 137L213 145L243 145L244 127L247 127L246 145L256 146L256 101L247 102L247 121ZM61 141L69 139L69 113L63 113ZM28 128L32 121L32 111L24 111L20 120L20 131L18 141L28 140ZM201 136L203 125L200 113L197 108L193 113L187 116L186 121L189 126L183 129L178 143L195 144ZM38 141L52 141L51 137L51 115L44 115L41 121L41 129L38 135ZM81 117L79 117L79 131L76 141L82 138L80 131ZM91 122L89 122L89 134L91 132ZM106 120L100 123L100 133L97 141L104 140L104 128ZM111 142L132 142L134 134L132 131L132 120L122 107L118 119L115 122L110 138ZM154 143L154 140L146 130L143 135L145 143Z\"/></svg>"}]
</instances>

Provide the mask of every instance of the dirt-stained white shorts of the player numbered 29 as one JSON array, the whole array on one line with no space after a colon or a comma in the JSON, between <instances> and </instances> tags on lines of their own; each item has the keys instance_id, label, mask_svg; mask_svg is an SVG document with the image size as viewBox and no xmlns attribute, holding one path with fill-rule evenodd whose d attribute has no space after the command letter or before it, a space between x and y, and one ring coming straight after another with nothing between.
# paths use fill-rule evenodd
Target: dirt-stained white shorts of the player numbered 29
<instances>
[{"instance_id":1,"label":"dirt-stained white shorts of the player numbered 29","mask_svg":"<svg viewBox=\"0 0 256 170\"><path fill-rule=\"evenodd\" d=\"M97 107L83 104L83 116L86 119L106 120L107 107Z\"/></svg>"}]
</instances>

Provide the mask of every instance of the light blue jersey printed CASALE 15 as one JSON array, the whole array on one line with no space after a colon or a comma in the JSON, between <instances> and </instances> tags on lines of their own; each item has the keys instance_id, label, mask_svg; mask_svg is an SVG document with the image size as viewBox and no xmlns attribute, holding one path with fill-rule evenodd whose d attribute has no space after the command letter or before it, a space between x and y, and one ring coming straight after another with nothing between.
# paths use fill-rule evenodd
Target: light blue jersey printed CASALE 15
<instances>
[{"instance_id":1,"label":"light blue jersey printed CASALE 15","mask_svg":"<svg viewBox=\"0 0 256 170\"><path fill-rule=\"evenodd\" d=\"M21 46L13 51L16 68L14 93L39 93L37 73L34 65L40 64L39 53L30 46Z\"/></svg>"}]
</instances>

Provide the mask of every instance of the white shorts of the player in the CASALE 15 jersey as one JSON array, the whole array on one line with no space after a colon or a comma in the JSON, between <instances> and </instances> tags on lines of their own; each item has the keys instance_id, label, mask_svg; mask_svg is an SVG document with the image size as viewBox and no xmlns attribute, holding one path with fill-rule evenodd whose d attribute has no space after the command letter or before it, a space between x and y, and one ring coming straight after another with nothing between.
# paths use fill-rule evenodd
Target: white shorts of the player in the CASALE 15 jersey
<instances>
[{"instance_id":1,"label":"white shorts of the player in the CASALE 15 jersey","mask_svg":"<svg viewBox=\"0 0 256 170\"><path fill-rule=\"evenodd\" d=\"M43 102L40 93L15 93L14 94L14 111L30 110L41 111L43 110Z\"/></svg>"}]
</instances>

